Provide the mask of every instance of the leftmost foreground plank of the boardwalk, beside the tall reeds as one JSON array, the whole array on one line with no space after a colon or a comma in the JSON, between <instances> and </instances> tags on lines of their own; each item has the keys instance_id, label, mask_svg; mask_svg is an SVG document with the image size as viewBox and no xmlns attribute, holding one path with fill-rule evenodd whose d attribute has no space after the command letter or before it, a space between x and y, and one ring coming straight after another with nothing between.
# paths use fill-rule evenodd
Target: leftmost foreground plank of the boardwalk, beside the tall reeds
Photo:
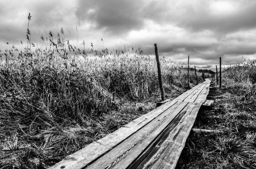
<instances>
[{"instance_id":1,"label":"leftmost foreground plank of the boardwalk, beside the tall reeds","mask_svg":"<svg viewBox=\"0 0 256 169\"><path fill-rule=\"evenodd\" d=\"M109 152L115 146L120 144L124 139L144 127L146 124L150 123L156 117L165 112L169 107L172 107L177 101L168 101L165 104L157 107L156 109L148 112L147 114L133 120L132 122L124 125L120 129L116 130L109 135L97 140L84 147L83 149L75 152L74 154L68 155L60 162L51 166L49 169L53 168L73 168L78 161L83 161L84 165L91 163L103 154Z\"/></svg>"}]
</instances>

